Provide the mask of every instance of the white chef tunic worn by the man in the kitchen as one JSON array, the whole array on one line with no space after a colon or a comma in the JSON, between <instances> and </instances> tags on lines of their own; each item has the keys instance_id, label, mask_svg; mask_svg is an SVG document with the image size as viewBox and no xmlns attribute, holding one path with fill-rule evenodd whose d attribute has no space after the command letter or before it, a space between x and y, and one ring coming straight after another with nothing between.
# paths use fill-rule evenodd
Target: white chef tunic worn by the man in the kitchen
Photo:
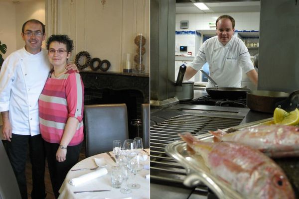
<instances>
[{"instance_id":1,"label":"white chef tunic worn by the man in the kitchen","mask_svg":"<svg viewBox=\"0 0 299 199\"><path fill-rule=\"evenodd\" d=\"M210 77L219 87L241 87L242 69L245 73L254 69L248 49L235 36L226 45L217 36L206 40L190 66L198 71L206 62ZM210 87L214 84L208 80L206 88Z\"/></svg>"}]
</instances>

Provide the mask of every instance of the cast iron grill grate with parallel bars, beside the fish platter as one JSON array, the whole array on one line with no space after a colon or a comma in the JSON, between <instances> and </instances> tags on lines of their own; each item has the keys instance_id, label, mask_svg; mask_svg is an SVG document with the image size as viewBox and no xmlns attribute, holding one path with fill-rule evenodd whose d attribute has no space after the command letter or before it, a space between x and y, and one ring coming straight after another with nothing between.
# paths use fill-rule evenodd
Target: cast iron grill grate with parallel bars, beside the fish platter
<instances>
[{"instance_id":1,"label":"cast iron grill grate with parallel bars, beside the fish platter","mask_svg":"<svg viewBox=\"0 0 299 199\"><path fill-rule=\"evenodd\" d=\"M179 114L157 125L150 127L150 182L183 186L186 170L164 152L167 144L180 140L179 133L205 134L209 130L217 130L237 126L240 118L227 118L221 116L206 116L195 114ZM208 194L204 185L197 187L199 193ZM196 193L195 191L193 193Z\"/></svg>"}]
</instances>

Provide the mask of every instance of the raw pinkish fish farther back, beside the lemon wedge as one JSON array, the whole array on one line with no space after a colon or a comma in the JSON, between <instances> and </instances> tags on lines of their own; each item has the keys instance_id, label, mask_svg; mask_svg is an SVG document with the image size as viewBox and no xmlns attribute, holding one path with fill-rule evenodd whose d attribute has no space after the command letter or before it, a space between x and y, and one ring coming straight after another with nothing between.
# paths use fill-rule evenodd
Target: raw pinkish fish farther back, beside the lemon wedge
<instances>
[{"instance_id":1,"label":"raw pinkish fish farther back, beside the lemon wedge","mask_svg":"<svg viewBox=\"0 0 299 199\"><path fill-rule=\"evenodd\" d=\"M209 131L214 141L231 141L249 145L269 157L299 156L299 127L288 125L259 125L227 133Z\"/></svg>"}]
</instances>

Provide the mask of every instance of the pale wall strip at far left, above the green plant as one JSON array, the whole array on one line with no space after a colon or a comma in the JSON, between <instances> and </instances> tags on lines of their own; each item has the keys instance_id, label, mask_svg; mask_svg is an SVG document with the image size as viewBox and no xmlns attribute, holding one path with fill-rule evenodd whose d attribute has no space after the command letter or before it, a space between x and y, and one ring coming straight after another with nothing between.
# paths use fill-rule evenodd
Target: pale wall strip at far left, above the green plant
<instances>
[{"instance_id":1,"label":"pale wall strip at far left, above the green plant","mask_svg":"<svg viewBox=\"0 0 299 199\"><path fill-rule=\"evenodd\" d=\"M3 55L5 59L10 53L16 50L15 39L15 5L11 2L0 1L0 40L6 44L7 51Z\"/></svg>"}]
</instances>

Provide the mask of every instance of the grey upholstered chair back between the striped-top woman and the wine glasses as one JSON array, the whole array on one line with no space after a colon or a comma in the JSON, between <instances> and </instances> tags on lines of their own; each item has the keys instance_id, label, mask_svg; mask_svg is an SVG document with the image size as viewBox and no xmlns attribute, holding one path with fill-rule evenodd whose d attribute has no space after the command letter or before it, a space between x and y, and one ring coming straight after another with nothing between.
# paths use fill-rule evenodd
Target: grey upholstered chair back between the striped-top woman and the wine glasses
<instances>
[{"instance_id":1,"label":"grey upholstered chair back between the striped-top woman and the wine glasses","mask_svg":"<svg viewBox=\"0 0 299 199\"><path fill-rule=\"evenodd\" d=\"M125 103L84 106L86 157L112 151L113 140L128 139Z\"/></svg>"}]
</instances>

